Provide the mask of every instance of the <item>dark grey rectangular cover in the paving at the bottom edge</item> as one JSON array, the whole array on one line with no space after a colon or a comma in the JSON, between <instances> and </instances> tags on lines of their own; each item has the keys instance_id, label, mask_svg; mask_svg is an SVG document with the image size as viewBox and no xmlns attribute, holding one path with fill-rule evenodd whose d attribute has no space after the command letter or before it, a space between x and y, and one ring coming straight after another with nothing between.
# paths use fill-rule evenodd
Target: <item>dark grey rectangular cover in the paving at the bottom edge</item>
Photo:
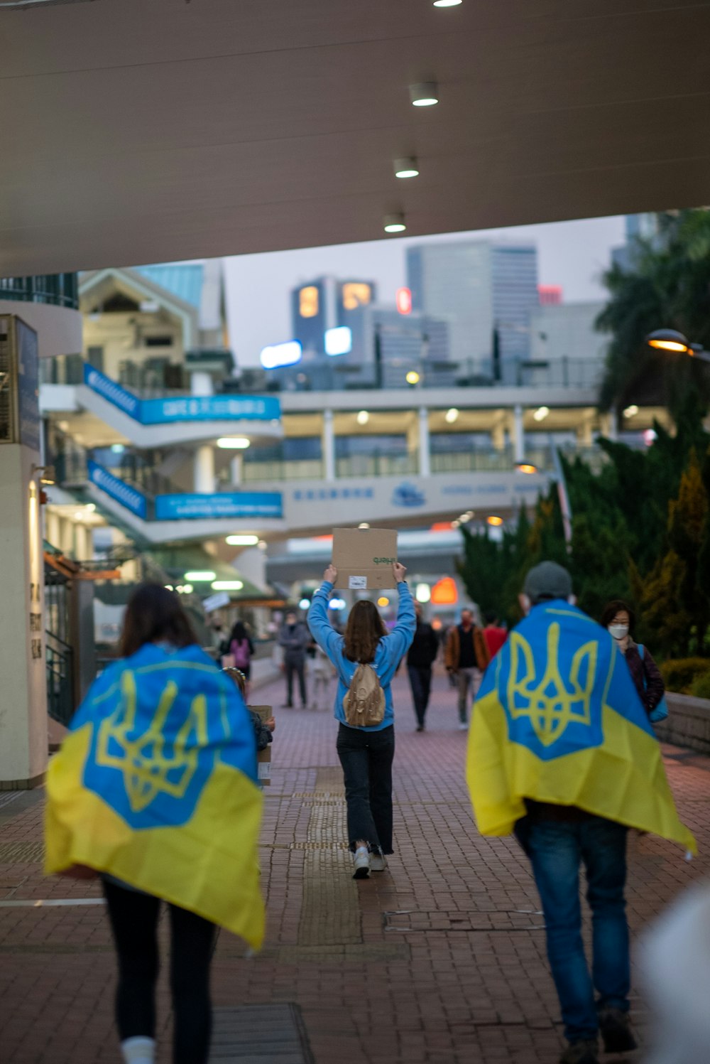
<instances>
[{"instance_id":1,"label":"dark grey rectangular cover in the paving at the bottom edge","mask_svg":"<svg viewBox=\"0 0 710 1064\"><path fill-rule=\"evenodd\" d=\"M210 1064L314 1064L297 1004L215 1009Z\"/></svg>"}]
</instances>

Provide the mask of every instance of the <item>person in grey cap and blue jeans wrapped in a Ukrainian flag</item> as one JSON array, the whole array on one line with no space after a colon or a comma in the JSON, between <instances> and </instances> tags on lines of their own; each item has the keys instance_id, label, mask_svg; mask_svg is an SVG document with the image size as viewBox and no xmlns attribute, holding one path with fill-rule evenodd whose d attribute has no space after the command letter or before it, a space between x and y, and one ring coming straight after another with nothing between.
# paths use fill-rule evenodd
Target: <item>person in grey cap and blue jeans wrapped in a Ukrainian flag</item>
<instances>
[{"instance_id":1,"label":"person in grey cap and blue jeans wrapped in a Ukrainian flag","mask_svg":"<svg viewBox=\"0 0 710 1064\"><path fill-rule=\"evenodd\" d=\"M573 601L560 565L542 562L527 573L526 617L478 694L467 776L480 833L514 830L532 865L568 1040L560 1064L598 1064L599 1033L607 1052L636 1048L624 897L628 827L696 847L678 819L628 669L609 633ZM591 972L581 864L592 910Z\"/></svg>"}]
</instances>

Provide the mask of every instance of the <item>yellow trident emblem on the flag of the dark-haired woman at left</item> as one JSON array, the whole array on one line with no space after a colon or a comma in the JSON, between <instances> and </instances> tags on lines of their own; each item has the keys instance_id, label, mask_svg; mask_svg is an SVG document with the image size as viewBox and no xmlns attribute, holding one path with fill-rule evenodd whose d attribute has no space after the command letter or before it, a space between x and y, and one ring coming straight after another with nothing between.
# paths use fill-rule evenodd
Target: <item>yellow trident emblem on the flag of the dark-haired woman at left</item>
<instances>
[{"instance_id":1,"label":"yellow trident emblem on the flag of the dark-haired woman at left","mask_svg":"<svg viewBox=\"0 0 710 1064\"><path fill-rule=\"evenodd\" d=\"M207 743L206 700L199 695L190 705L190 712L172 744L172 753L166 751L163 728L170 708L178 695L178 685L169 680L165 685L157 710L148 731L134 738L136 720L136 680L134 672L124 672L121 678L122 705L101 722L97 741L97 764L107 768L119 768L129 804L134 813L140 813L157 797L167 794L172 798L183 798L198 767L198 746L186 749L192 731L199 745ZM123 705L125 711L123 712ZM113 741L123 752L122 757L108 752Z\"/></svg>"}]
</instances>

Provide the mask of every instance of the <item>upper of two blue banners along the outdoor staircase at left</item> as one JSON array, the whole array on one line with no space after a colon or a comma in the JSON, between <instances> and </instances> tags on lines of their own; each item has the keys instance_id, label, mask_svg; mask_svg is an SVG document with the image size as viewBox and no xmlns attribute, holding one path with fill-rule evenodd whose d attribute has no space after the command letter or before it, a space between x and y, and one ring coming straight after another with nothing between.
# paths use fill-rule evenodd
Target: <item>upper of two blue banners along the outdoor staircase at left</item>
<instances>
[{"instance_id":1,"label":"upper of two blue banners along the outdoor staircase at left","mask_svg":"<svg viewBox=\"0 0 710 1064\"><path fill-rule=\"evenodd\" d=\"M274 396L179 396L139 399L109 377L84 365L84 383L140 425L172 425L176 421L272 421L281 417Z\"/></svg>"}]
</instances>

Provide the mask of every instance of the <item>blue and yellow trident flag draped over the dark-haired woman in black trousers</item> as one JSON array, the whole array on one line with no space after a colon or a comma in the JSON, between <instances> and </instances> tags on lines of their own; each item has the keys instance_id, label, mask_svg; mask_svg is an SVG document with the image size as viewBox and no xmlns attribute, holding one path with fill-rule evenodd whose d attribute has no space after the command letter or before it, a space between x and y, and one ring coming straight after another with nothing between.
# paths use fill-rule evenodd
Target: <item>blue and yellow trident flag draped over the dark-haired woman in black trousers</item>
<instances>
[{"instance_id":1,"label":"blue and yellow trident flag draped over the dark-haired woman in black trousers","mask_svg":"<svg viewBox=\"0 0 710 1064\"><path fill-rule=\"evenodd\" d=\"M264 938L254 728L197 646L111 665L47 778L46 871L88 865L241 935Z\"/></svg>"}]
</instances>

